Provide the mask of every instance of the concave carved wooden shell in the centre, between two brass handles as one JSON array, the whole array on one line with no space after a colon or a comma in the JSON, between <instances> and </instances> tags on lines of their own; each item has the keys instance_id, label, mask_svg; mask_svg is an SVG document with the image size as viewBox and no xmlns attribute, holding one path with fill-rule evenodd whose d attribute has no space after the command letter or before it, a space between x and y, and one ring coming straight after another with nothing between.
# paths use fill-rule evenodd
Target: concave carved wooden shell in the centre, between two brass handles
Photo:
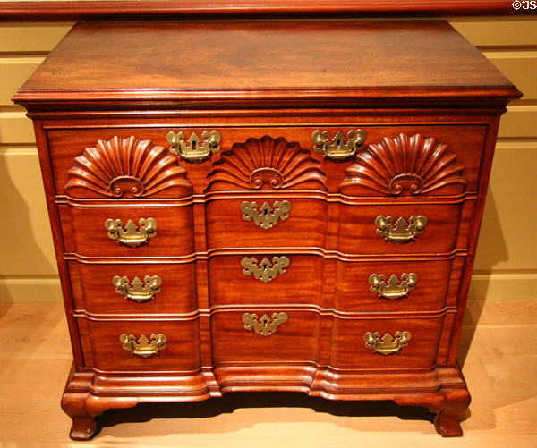
<instances>
[{"instance_id":1,"label":"concave carved wooden shell in the centre, between two brass handles","mask_svg":"<svg viewBox=\"0 0 537 448\"><path fill-rule=\"evenodd\" d=\"M225 190L226 184L255 190L286 189L299 184L307 188L305 182L317 182L317 188L326 190L326 175L309 150L283 137L272 139L267 135L235 143L213 164L207 179L207 190Z\"/></svg>"}]
</instances>

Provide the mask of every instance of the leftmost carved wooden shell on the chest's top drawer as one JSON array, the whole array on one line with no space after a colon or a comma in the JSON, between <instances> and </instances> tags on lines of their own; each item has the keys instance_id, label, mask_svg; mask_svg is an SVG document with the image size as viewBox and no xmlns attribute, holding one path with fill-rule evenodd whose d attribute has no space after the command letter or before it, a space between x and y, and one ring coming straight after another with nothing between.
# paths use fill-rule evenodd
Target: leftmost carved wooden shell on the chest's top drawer
<instances>
[{"instance_id":1,"label":"leftmost carved wooden shell on the chest's top drawer","mask_svg":"<svg viewBox=\"0 0 537 448\"><path fill-rule=\"evenodd\" d=\"M74 159L65 190L72 197L88 198L95 193L108 198L146 198L173 187L192 189L186 171L166 148L150 140L113 137L98 140ZM168 190L161 196L176 196Z\"/></svg>"}]
</instances>

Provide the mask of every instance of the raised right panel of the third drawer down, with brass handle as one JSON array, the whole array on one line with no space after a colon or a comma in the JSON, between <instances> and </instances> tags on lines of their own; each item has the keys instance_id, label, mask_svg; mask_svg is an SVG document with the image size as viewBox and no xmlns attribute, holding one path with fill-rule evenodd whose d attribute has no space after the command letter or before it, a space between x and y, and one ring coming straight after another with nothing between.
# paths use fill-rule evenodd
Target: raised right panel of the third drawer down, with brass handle
<instances>
[{"instance_id":1,"label":"raised right panel of the third drawer down, with brass handle","mask_svg":"<svg viewBox=\"0 0 537 448\"><path fill-rule=\"evenodd\" d=\"M443 309L452 266L453 260L338 261L334 307L351 312Z\"/></svg>"}]
</instances>

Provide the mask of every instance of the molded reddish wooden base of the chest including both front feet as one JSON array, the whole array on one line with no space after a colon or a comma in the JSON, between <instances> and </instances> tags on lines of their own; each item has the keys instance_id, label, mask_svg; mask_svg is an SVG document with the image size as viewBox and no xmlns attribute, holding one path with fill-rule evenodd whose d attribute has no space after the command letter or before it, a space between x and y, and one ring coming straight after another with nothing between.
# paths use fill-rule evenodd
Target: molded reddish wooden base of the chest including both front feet
<instances>
[{"instance_id":1,"label":"molded reddish wooden base of the chest including both front feet","mask_svg":"<svg viewBox=\"0 0 537 448\"><path fill-rule=\"evenodd\" d=\"M444 437L463 435L459 422L470 404L470 393L458 368L342 373L308 364L286 366L283 372L281 365L234 364L182 376L105 375L72 370L62 408L72 418L71 438L89 440L97 434L95 418L105 410L130 408L139 402L194 402L222 393L260 391L303 392L330 400L393 400L399 405L423 406L437 414L434 425Z\"/></svg>"}]
</instances>

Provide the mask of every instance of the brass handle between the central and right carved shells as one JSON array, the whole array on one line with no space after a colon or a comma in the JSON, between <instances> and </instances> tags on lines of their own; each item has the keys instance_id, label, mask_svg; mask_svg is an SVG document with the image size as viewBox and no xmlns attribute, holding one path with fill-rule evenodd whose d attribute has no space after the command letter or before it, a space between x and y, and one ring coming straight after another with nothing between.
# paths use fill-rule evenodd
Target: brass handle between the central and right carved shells
<instances>
[{"instance_id":1,"label":"brass handle between the central and right carved shells","mask_svg":"<svg viewBox=\"0 0 537 448\"><path fill-rule=\"evenodd\" d=\"M348 131L346 140L342 131L337 131L331 141L330 131L313 131L311 134L313 150L334 162L355 156L363 148L366 138L367 132L362 129Z\"/></svg>"}]
</instances>

